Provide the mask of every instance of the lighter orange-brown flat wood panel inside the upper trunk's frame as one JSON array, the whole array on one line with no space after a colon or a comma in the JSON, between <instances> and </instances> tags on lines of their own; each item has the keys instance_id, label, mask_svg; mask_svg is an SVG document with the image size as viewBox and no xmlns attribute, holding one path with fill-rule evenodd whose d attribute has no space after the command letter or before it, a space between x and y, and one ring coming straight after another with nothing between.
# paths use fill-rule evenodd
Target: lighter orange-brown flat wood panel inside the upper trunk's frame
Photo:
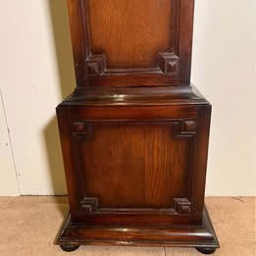
<instances>
[{"instance_id":1,"label":"lighter orange-brown flat wood panel inside the upper trunk's frame","mask_svg":"<svg viewBox=\"0 0 256 256\"><path fill-rule=\"evenodd\" d=\"M87 2L91 52L106 54L108 69L156 67L172 48L172 1Z\"/></svg>"}]
</instances>

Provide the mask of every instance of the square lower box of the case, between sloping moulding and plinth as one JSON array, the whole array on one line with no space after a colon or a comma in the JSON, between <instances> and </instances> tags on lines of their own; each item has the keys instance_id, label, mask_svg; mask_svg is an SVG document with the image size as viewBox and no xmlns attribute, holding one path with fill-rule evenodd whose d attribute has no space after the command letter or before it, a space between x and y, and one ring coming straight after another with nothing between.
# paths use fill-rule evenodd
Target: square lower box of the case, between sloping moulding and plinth
<instances>
[{"instance_id":1,"label":"square lower box of the case, between sloping moulding and plinth","mask_svg":"<svg viewBox=\"0 0 256 256\"><path fill-rule=\"evenodd\" d=\"M71 202L74 222L155 225L157 220L160 226L200 223L211 106L207 101L204 105L193 105L192 102L169 107L146 105L139 109L115 105L86 107L84 102L83 106L72 108L66 106L66 102L60 105L57 113L66 175L71 181L68 183L69 195L75 199ZM120 139L122 143L115 143ZM150 144L145 144L146 141ZM127 166L132 170L128 171ZM135 178L134 167L137 171ZM140 188L135 188L135 184ZM123 189L115 200L112 192L121 187ZM165 195L155 187L164 189ZM134 199L135 194L137 198ZM169 198L169 204L157 208L156 204L152 205L152 200L154 196L159 199L160 195L162 202ZM123 205L119 205L119 196L123 196ZM93 214L89 218L80 212L84 208L81 204L84 198L88 212ZM151 198L151 205L146 198ZM109 200L107 205L102 205L101 199L103 202ZM127 210L124 210L125 206ZM158 209L156 216L152 215L156 210L152 206ZM141 208L147 208L147 211Z\"/></svg>"}]
</instances>

